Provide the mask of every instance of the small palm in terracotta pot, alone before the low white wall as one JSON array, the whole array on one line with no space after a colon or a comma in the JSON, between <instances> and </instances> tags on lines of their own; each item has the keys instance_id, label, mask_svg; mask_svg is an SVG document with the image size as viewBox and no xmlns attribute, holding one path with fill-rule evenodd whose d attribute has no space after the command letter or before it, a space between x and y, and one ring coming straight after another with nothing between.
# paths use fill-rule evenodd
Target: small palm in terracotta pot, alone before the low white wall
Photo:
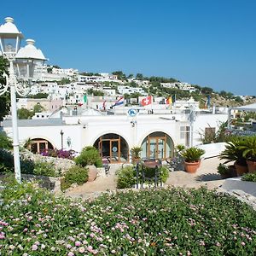
<instances>
[{"instance_id":1,"label":"small palm in terracotta pot, alone before the low white wall","mask_svg":"<svg viewBox=\"0 0 256 256\"><path fill-rule=\"evenodd\" d=\"M205 150L201 148L186 148L181 152L184 159L185 171L195 173L200 165L201 156L205 154Z\"/></svg>"}]
</instances>

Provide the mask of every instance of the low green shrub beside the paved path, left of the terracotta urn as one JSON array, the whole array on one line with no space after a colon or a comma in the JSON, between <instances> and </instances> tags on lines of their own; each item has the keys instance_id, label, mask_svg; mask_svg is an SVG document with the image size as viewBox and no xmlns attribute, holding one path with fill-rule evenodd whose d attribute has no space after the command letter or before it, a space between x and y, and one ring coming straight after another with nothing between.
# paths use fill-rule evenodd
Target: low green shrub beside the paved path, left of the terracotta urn
<instances>
[{"instance_id":1,"label":"low green shrub beside the paved path, left of the terracotta urn","mask_svg":"<svg viewBox=\"0 0 256 256\"><path fill-rule=\"evenodd\" d=\"M88 169L81 166L72 166L61 179L61 190L69 188L72 184L82 185L88 180Z\"/></svg>"}]
</instances>

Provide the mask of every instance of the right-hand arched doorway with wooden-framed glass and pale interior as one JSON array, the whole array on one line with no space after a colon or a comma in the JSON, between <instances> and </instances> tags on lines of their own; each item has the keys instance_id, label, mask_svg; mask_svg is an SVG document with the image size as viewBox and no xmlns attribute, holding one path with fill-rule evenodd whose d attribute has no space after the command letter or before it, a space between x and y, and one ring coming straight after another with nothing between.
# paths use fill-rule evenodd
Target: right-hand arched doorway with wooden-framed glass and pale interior
<instances>
[{"instance_id":1,"label":"right-hand arched doorway with wooden-framed glass and pale interior","mask_svg":"<svg viewBox=\"0 0 256 256\"><path fill-rule=\"evenodd\" d=\"M173 155L172 138L165 132L155 131L144 138L142 158L166 160Z\"/></svg>"}]
</instances>

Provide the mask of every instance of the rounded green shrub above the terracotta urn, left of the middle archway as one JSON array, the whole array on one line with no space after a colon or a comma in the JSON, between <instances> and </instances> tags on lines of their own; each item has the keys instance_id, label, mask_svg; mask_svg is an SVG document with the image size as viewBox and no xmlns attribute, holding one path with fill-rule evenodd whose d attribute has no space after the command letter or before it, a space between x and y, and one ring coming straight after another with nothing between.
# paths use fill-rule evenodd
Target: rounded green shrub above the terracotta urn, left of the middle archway
<instances>
[{"instance_id":1,"label":"rounded green shrub above the terracotta urn, left of the middle archway","mask_svg":"<svg viewBox=\"0 0 256 256\"><path fill-rule=\"evenodd\" d=\"M74 159L75 163L79 166L95 165L102 167L102 158L98 150L94 147L88 146L82 149L81 154Z\"/></svg>"}]
</instances>

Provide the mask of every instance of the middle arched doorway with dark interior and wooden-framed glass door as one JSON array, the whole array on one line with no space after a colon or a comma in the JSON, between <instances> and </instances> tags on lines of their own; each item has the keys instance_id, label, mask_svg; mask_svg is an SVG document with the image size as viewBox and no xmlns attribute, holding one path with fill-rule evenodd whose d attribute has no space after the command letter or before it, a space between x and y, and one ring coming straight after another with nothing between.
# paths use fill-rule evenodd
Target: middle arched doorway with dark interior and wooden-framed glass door
<instances>
[{"instance_id":1,"label":"middle arched doorway with dark interior and wooden-framed glass door","mask_svg":"<svg viewBox=\"0 0 256 256\"><path fill-rule=\"evenodd\" d=\"M118 134L108 133L99 137L94 143L102 158L108 158L110 163L120 163L129 160L129 147L125 139Z\"/></svg>"}]
</instances>

